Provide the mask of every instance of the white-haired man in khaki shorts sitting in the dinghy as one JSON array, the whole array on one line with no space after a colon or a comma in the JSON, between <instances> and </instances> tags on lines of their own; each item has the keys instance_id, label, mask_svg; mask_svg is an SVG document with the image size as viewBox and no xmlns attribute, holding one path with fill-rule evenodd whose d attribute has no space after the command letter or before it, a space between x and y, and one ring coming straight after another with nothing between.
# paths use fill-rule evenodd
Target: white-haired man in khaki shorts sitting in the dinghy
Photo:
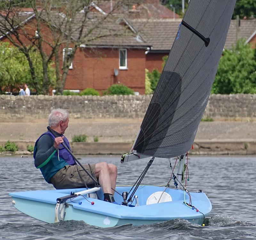
<instances>
[{"instance_id":1,"label":"white-haired man in khaki shorts sitting in the dinghy","mask_svg":"<svg viewBox=\"0 0 256 240\"><path fill-rule=\"evenodd\" d=\"M45 181L56 189L79 188L85 184L93 184L93 180L61 145L64 142L70 149L68 139L63 135L68 128L68 112L64 109L53 109L48 121L50 128L59 137L55 138L50 131L44 132L36 140L34 148L35 166L41 170ZM84 168L98 179L104 200L115 202L113 189L116 187L116 166L100 162L85 164Z\"/></svg>"}]
</instances>

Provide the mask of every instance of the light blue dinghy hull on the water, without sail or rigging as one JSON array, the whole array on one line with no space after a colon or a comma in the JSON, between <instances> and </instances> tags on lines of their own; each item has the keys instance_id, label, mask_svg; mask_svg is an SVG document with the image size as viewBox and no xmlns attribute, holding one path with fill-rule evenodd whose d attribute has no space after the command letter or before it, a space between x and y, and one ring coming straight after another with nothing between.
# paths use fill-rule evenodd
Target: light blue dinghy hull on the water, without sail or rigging
<instances>
[{"instance_id":1,"label":"light blue dinghy hull on the water, without sail or rigging","mask_svg":"<svg viewBox=\"0 0 256 240\"><path fill-rule=\"evenodd\" d=\"M130 186L116 187L116 191L129 192ZM9 195L12 203L20 212L47 223L56 222L56 199L72 192L85 189L42 190L14 192ZM148 197L156 192L164 191L171 196L172 201L146 205ZM98 191L100 199L103 199L102 191ZM102 200L78 196L67 200L64 220L83 220L85 223L98 227L114 227L123 224L148 225L176 218L186 219L195 224L202 224L204 217L210 214L212 205L203 192L190 192L195 209L184 204L184 191L180 189L165 188L163 186L140 186L136 191L139 205L129 207L116 205ZM117 203L123 199L115 193ZM94 205L91 202L94 202ZM80 202L80 204L79 204ZM185 202L189 203L189 196L185 193ZM135 203L132 203L135 204ZM199 210L196 212L196 208Z\"/></svg>"}]
</instances>

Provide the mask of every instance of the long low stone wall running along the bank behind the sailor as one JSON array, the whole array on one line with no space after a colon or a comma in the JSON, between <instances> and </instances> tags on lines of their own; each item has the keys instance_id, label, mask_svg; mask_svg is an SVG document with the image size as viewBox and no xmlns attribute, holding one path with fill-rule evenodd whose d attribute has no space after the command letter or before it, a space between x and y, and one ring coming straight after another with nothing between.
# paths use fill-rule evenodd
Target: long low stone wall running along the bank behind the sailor
<instances>
[{"instance_id":1,"label":"long low stone wall running along the bank behind the sailor","mask_svg":"<svg viewBox=\"0 0 256 240\"><path fill-rule=\"evenodd\" d=\"M64 108L74 118L143 117L152 95L119 96L12 96L0 95L0 120L48 118L54 108ZM211 118L256 117L256 94L213 94L204 112Z\"/></svg>"}]
</instances>

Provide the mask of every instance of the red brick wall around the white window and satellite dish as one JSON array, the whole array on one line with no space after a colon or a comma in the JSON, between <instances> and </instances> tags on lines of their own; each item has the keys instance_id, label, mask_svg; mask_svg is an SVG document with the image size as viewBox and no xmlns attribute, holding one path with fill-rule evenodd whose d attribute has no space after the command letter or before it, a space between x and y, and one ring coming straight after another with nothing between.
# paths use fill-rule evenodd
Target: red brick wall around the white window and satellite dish
<instances>
[{"instance_id":1,"label":"red brick wall around the white window and satellite dish","mask_svg":"<svg viewBox=\"0 0 256 240\"><path fill-rule=\"evenodd\" d=\"M78 49L65 89L91 87L101 92L120 83L145 94L145 67L145 49L127 49L127 69L118 69L119 49ZM117 76L114 76L115 68Z\"/></svg>"}]
</instances>

